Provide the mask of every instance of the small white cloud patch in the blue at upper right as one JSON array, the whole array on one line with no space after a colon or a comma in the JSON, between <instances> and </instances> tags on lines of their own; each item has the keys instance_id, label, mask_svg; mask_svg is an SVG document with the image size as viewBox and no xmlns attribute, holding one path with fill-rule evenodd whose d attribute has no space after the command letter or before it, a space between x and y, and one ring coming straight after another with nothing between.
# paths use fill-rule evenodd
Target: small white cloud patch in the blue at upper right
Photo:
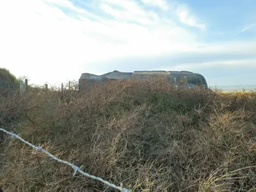
<instances>
[{"instance_id":1,"label":"small white cloud patch in the blue at upper right","mask_svg":"<svg viewBox=\"0 0 256 192\"><path fill-rule=\"evenodd\" d=\"M187 26L192 26L195 28L205 29L206 24L204 24L195 14L191 12L186 4L178 4L176 8L176 15L181 23Z\"/></svg>"}]
</instances>

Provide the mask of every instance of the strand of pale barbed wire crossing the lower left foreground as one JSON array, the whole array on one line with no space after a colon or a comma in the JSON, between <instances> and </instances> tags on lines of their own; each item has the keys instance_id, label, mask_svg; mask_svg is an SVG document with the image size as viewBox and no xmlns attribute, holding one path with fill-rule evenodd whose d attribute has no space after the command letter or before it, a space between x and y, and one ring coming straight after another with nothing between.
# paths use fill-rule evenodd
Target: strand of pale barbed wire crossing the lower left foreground
<instances>
[{"instance_id":1,"label":"strand of pale barbed wire crossing the lower left foreground","mask_svg":"<svg viewBox=\"0 0 256 192\"><path fill-rule=\"evenodd\" d=\"M73 174L73 176L75 176L75 174L76 174L77 172L80 172L80 174L83 174L83 175L86 176L86 177L90 177L90 178L93 179L93 180L98 180L98 181L104 183L105 185L108 185L108 186L110 186L110 187L112 187L112 188L116 188L116 189L119 190L119 191L122 191L122 192L132 192L131 190L129 190L129 189L127 189L127 188L122 188L122 184L121 184L121 187L119 187L119 186L117 186L117 185L114 185L113 183L109 183L108 181L103 180L103 179L100 178L100 177L96 177L96 176L94 176L94 175L91 175L91 174L88 174L88 173L86 173L86 172L83 172L83 171L81 170L81 167L82 167L82 166L78 167L78 166L75 166L74 164L71 164L71 163L68 162L68 161L61 160L60 158L57 158L55 155L52 155L51 153L49 153L47 150L44 150L42 147L37 147L37 146L31 144L30 142L27 142L25 139L22 139L22 138L19 137L17 134L11 133L11 132L5 130L4 128L0 128L0 131L3 131L4 133L9 134L11 137L15 137L15 138L19 139L21 142L26 143L26 145L29 145L30 147L34 148L35 150L38 150L38 151L41 151L42 153L47 154L48 156L50 156L50 158L53 158L54 160L59 161L59 162L62 163L62 164L67 164L67 165L71 166L72 169L74 169L74 171L75 171L74 174Z\"/></svg>"}]
</instances>

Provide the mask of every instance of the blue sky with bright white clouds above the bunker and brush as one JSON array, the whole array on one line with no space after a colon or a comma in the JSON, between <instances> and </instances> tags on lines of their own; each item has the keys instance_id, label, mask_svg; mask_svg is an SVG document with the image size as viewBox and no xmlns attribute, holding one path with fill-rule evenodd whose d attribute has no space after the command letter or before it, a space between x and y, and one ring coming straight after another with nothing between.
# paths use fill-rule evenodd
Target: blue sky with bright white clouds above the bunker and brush
<instances>
[{"instance_id":1,"label":"blue sky with bright white clouds above the bunker and brush","mask_svg":"<svg viewBox=\"0 0 256 192\"><path fill-rule=\"evenodd\" d=\"M35 84L187 70L256 85L256 1L0 0L0 67Z\"/></svg>"}]
</instances>

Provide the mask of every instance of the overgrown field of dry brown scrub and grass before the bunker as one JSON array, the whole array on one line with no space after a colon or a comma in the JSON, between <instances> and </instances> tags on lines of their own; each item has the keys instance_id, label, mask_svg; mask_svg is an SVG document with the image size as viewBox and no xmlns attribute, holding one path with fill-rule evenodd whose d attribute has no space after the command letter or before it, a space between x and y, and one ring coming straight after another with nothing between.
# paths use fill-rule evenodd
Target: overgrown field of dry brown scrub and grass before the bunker
<instances>
[{"instance_id":1,"label":"overgrown field of dry brown scrub and grass before the bunker","mask_svg":"<svg viewBox=\"0 0 256 192\"><path fill-rule=\"evenodd\" d=\"M132 191L256 191L256 93L207 95L162 80L0 97L0 126ZM115 191L0 133L0 187Z\"/></svg>"}]
</instances>

